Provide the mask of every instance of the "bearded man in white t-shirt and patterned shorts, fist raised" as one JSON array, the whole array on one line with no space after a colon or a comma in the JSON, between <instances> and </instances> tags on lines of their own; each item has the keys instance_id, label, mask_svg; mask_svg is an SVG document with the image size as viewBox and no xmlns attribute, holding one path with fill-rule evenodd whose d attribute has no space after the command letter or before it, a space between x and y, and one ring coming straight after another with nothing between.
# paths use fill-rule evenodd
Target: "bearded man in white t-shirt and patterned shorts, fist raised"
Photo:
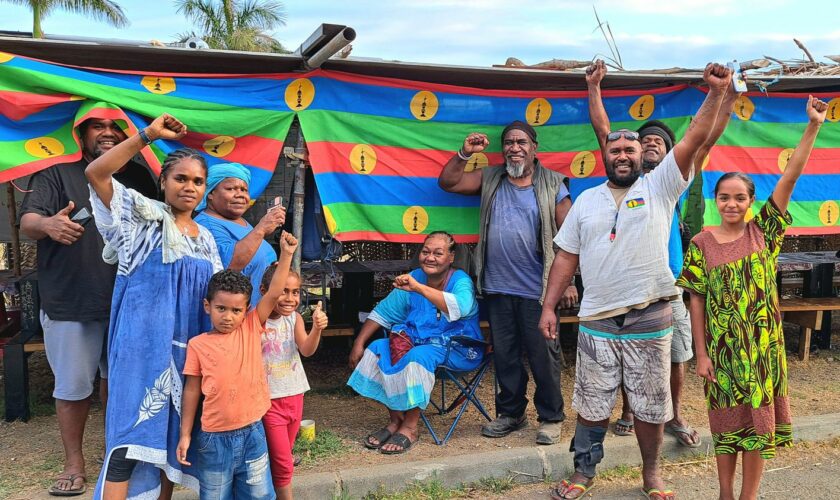
<instances>
[{"instance_id":1,"label":"bearded man in white t-shirt and patterned shorts, fist raised","mask_svg":"<svg viewBox=\"0 0 840 500\"><path fill-rule=\"evenodd\" d=\"M549 274L540 329L556 337L555 308L580 265L584 294L573 406L575 473L555 498L579 498L593 484L604 456L603 441L619 389L636 417L644 490L673 498L659 474L665 422L673 417L670 394L671 307L678 296L668 267L674 206L694 174L695 155L711 138L732 75L710 64L703 79L709 93L659 166L642 177L639 134L611 132L602 149L608 181L584 191L554 239L560 248ZM722 131L721 131L722 132Z\"/></svg>"}]
</instances>

